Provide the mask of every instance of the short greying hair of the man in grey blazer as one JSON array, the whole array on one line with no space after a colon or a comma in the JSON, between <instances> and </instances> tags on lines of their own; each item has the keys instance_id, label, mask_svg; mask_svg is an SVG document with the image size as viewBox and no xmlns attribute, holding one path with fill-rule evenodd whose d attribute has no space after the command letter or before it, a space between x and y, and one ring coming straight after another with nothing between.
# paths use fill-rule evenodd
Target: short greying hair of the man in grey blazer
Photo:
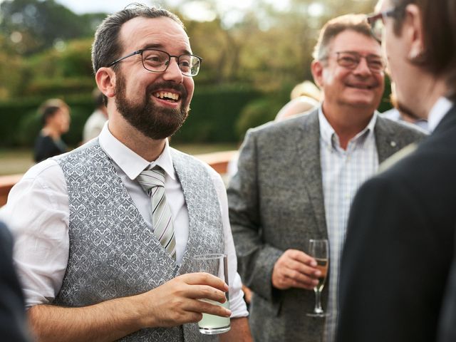
<instances>
[{"instance_id":1,"label":"short greying hair of the man in grey blazer","mask_svg":"<svg viewBox=\"0 0 456 342\"><path fill-rule=\"evenodd\" d=\"M338 16L328 21L320 30L318 41L316 42L312 56L317 61L323 61L328 58L328 47L339 33L344 31L355 31L364 36L375 39L369 26L366 16L363 14L346 14ZM380 44L380 43L379 43Z\"/></svg>"}]
</instances>

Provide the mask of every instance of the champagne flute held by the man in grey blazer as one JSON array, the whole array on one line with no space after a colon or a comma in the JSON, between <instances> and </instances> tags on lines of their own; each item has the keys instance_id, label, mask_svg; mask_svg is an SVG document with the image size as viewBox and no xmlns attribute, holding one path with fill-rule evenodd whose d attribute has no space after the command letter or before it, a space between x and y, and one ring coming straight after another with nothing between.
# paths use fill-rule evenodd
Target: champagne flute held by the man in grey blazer
<instances>
[{"instance_id":1,"label":"champagne flute held by the man in grey blazer","mask_svg":"<svg viewBox=\"0 0 456 342\"><path fill-rule=\"evenodd\" d=\"M326 275L328 274L328 240L327 239L310 239L309 240L309 255L316 260L316 268L321 271L318 277L318 284L314 287L315 292L315 307L314 312L307 314L311 317L325 317L327 314L321 307L321 291L325 286Z\"/></svg>"}]
</instances>

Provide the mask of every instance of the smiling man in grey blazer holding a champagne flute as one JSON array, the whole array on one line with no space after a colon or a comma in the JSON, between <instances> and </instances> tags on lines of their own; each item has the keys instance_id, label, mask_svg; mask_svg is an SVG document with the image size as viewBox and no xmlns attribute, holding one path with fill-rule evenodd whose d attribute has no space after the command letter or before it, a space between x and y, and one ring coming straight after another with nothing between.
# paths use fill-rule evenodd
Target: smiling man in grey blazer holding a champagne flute
<instances>
[{"instance_id":1,"label":"smiling man in grey blazer holding a champagne flute","mask_svg":"<svg viewBox=\"0 0 456 342\"><path fill-rule=\"evenodd\" d=\"M254 291L249 323L256 341L333 341L351 200L379 162L424 136L376 112L384 88L381 55L365 16L328 21L311 65L321 105L247 132L227 192L239 274ZM309 239L330 244L326 319L306 316L322 276Z\"/></svg>"}]
</instances>

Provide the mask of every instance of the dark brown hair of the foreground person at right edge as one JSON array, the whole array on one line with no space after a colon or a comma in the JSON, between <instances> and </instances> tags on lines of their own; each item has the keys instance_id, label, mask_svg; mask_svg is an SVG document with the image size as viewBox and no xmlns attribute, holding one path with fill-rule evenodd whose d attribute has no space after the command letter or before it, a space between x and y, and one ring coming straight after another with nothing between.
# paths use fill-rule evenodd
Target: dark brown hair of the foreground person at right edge
<instances>
[{"instance_id":1,"label":"dark brown hair of the foreground person at right edge","mask_svg":"<svg viewBox=\"0 0 456 342\"><path fill-rule=\"evenodd\" d=\"M449 0L392 0L395 8L402 9L395 16L394 31L400 35L404 9L408 4L420 8L423 21L423 55L412 63L425 68L447 81L447 97L456 100L456 1Z\"/></svg>"}]
</instances>

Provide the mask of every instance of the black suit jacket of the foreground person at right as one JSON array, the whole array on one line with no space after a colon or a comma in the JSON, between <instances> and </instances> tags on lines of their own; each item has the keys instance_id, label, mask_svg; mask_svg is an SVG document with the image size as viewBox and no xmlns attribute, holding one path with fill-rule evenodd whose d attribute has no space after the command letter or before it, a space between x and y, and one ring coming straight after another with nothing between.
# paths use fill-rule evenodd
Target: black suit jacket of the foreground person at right
<instances>
[{"instance_id":1,"label":"black suit jacket of the foreground person at right","mask_svg":"<svg viewBox=\"0 0 456 342\"><path fill-rule=\"evenodd\" d=\"M454 250L456 108L417 150L366 182L341 261L338 342L430 342Z\"/></svg>"}]
</instances>

